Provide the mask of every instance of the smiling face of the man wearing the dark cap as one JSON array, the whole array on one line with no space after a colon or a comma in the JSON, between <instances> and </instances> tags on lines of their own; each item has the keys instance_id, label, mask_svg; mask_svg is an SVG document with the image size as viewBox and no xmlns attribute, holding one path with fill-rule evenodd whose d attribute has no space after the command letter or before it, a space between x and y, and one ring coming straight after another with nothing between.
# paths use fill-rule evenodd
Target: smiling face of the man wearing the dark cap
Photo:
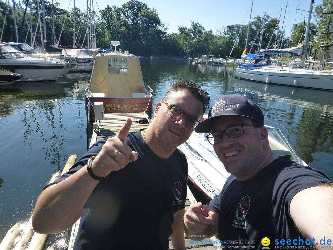
<instances>
[{"instance_id":1,"label":"smiling face of the man wearing the dark cap","mask_svg":"<svg viewBox=\"0 0 333 250\"><path fill-rule=\"evenodd\" d=\"M253 121L241 116L222 116L213 122L212 132L241 123L253 124ZM243 129L244 134L236 138L229 138L223 133L221 142L214 144L214 150L225 169L239 181L249 179L264 167L265 145L268 143L265 127L243 126Z\"/></svg>"}]
</instances>

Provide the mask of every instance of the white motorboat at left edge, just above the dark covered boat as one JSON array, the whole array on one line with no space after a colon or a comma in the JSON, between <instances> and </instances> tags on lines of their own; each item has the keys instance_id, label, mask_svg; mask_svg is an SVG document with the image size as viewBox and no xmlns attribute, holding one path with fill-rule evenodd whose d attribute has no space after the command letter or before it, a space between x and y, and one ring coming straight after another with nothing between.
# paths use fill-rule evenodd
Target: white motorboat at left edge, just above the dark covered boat
<instances>
[{"instance_id":1,"label":"white motorboat at left edge, just above the dark covered boat","mask_svg":"<svg viewBox=\"0 0 333 250\"><path fill-rule=\"evenodd\" d=\"M7 44L0 44L0 67L21 74L19 81L56 81L70 65L30 57Z\"/></svg>"}]
</instances>

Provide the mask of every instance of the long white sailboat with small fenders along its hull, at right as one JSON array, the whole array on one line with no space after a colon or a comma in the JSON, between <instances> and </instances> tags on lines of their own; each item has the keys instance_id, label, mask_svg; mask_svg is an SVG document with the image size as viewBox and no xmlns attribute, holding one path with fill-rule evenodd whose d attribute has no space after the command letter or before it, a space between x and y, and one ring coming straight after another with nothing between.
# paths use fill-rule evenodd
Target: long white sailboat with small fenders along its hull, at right
<instances>
[{"instance_id":1,"label":"long white sailboat with small fenders along its hull, at right","mask_svg":"<svg viewBox=\"0 0 333 250\"><path fill-rule=\"evenodd\" d=\"M289 66L285 65L278 66L270 64L258 68L238 67L234 71L235 76L241 79L261 82L261 83L333 91L332 69L314 70L314 69L304 68L306 44L309 36L309 26L312 15L313 2L314 2L313 0L310 0L309 15L307 20L300 67L294 67L291 64ZM324 46L322 47L324 48ZM322 58L322 60L324 61L324 58Z\"/></svg>"}]
</instances>

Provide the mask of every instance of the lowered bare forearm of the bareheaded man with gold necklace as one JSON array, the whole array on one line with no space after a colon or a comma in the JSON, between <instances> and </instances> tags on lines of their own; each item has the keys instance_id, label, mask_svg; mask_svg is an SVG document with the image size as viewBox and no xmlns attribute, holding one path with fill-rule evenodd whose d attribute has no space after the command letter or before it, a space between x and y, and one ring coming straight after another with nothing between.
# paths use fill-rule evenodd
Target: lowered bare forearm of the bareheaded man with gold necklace
<instances>
[{"instance_id":1,"label":"lowered bare forearm of the bareheaded man with gold necklace","mask_svg":"<svg viewBox=\"0 0 333 250\"><path fill-rule=\"evenodd\" d=\"M185 240L184 240L184 227L183 227L183 216L185 213L185 208L179 210L173 215L174 221L172 224L172 235L170 236L172 246L174 250L184 250Z\"/></svg>"}]
</instances>

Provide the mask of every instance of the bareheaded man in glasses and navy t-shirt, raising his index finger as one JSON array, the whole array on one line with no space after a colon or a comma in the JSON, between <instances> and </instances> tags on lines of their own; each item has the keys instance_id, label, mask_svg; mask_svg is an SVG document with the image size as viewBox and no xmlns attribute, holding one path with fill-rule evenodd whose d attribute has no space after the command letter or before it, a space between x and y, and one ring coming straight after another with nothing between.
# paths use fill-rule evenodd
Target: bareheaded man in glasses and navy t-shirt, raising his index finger
<instances>
[{"instance_id":1,"label":"bareheaded man in glasses and navy t-shirt, raising his index finger","mask_svg":"<svg viewBox=\"0 0 333 250\"><path fill-rule=\"evenodd\" d=\"M184 143L209 108L209 95L188 81L172 84L147 130L96 142L44 188L32 218L36 232L67 230L80 217L74 249L185 249L182 218L187 161Z\"/></svg>"}]
</instances>

